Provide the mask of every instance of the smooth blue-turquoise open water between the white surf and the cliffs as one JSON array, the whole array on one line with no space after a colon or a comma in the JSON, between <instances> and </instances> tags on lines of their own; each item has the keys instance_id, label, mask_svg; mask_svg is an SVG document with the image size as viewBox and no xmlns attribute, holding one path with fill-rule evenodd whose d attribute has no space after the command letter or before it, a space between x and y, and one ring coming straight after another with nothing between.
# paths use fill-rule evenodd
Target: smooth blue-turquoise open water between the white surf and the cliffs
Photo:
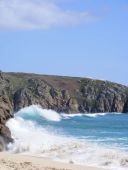
<instances>
[{"instance_id":1,"label":"smooth blue-turquoise open water between the white surf and the cliffs","mask_svg":"<svg viewBox=\"0 0 128 170\"><path fill-rule=\"evenodd\" d=\"M63 119L55 128L62 128L66 135L88 139L108 145L116 145L128 150L128 115L105 114L90 116L75 116Z\"/></svg>"}]
</instances>

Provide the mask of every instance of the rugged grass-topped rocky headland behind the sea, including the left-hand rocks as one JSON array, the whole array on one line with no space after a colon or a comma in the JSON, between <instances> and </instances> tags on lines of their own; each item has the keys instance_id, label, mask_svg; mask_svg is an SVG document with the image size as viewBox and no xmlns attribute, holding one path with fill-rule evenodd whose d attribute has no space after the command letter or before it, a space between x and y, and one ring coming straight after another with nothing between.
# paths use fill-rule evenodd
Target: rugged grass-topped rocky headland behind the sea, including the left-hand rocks
<instances>
[{"instance_id":1,"label":"rugged grass-topped rocky headland behind the sea, including the left-hand rocks","mask_svg":"<svg viewBox=\"0 0 128 170\"><path fill-rule=\"evenodd\" d=\"M0 134L11 134L7 119L19 109L39 104L65 113L128 112L128 87L87 78L0 73Z\"/></svg>"}]
</instances>

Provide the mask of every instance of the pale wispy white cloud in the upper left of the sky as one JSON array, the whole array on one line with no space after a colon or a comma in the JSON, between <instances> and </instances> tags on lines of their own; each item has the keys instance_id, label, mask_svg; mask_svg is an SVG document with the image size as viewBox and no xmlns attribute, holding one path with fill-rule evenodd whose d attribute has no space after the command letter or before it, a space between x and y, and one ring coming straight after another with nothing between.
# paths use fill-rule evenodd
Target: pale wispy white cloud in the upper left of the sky
<instances>
[{"instance_id":1,"label":"pale wispy white cloud in the upper left of the sky","mask_svg":"<svg viewBox=\"0 0 128 170\"><path fill-rule=\"evenodd\" d=\"M53 0L0 0L0 29L47 29L95 20L86 11L64 10Z\"/></svg>"}]
</instances>

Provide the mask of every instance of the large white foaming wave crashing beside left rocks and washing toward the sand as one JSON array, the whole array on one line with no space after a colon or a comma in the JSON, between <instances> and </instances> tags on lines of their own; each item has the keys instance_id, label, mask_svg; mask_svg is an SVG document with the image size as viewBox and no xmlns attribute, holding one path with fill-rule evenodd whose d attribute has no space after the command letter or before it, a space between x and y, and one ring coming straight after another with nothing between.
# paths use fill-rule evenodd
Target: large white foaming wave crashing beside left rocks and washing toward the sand
<instances>
[{"instance_id":1,"label":"large white foaming wave crashing beside left rocks and washing toward the sand","mask_svg":"<svg viewBox=\"0 0 128 170\"><path fill-rule=\"evenodd\" d=\"M7 122L15 140L8 146L11 152L42 156L63 162L72 161L75 164L109 167L116 170L128 169L128 157L125 152L75 137L66 137L61 133L56 133L54 129L51 131L48 127L37 124L34 119L38 115L50 121L61 120L58 113L45 111L44 114L44 110L38 106L27 107L18 112L14 119ZM33 117L26 119L30 115Z\"/></svg>"}]
</instances>

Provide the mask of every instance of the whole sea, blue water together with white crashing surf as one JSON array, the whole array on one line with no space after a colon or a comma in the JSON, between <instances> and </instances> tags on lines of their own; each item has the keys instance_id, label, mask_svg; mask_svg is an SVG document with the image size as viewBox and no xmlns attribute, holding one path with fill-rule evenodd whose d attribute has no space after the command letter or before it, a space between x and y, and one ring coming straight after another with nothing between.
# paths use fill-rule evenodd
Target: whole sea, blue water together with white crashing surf
<instances>
[{"instance_id":1,"label":"whole sea, blue water together with white crashing surf","mask_svg":"<svg viewBox=\"0 0 128 170\"><path fill-rule=\"evenodd\" d=\"M128 114L65 114L32 105L7 122L8 151L65 163L128 170Z\"/></svg>"}]
</instances>

